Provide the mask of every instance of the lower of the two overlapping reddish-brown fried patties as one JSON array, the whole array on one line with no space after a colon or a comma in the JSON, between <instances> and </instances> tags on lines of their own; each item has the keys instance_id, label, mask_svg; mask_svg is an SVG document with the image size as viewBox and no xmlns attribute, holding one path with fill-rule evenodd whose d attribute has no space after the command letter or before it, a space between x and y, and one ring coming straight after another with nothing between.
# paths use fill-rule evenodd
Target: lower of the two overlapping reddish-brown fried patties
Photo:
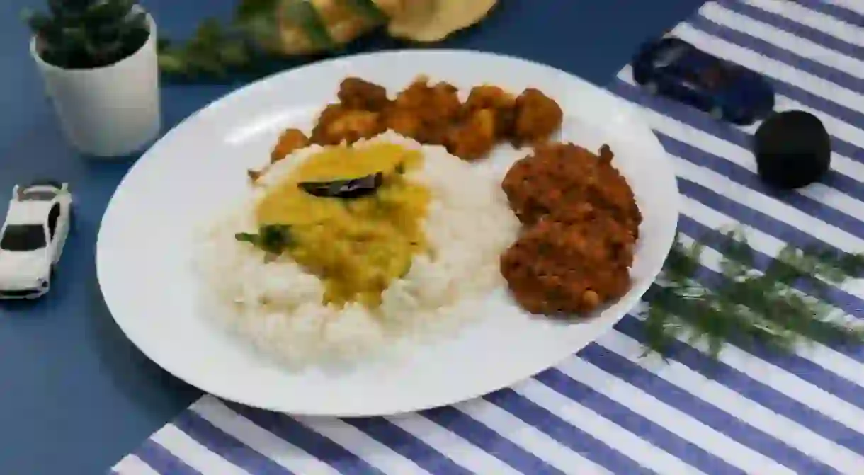
<instances>
[{"instance_id":1,"label":"lower of the two overlapping reddish-brown fried patties","mask_svg":"<svg viewBox=\"0 0 864 475\"><path fill-rule=\"evenodd\" d=\"M501 255L501 275L533 314L583 314L630 288L632 237L613 219L543 219Z\"/></svg>"}]
</instances>

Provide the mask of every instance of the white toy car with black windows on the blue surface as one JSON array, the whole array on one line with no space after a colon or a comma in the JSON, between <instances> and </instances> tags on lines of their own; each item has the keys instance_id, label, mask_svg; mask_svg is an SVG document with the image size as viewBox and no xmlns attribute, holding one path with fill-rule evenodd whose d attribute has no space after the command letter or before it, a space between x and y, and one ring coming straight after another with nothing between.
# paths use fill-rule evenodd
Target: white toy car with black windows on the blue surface
<instances>
[{"instance_id":1,"label":"white toy car with black windows on the blue surface","mask_svg":"<svg viewBox=\"0 0 864 475\"><path fill-rule=\"evenodd\" d=\"M69 233L71 206L67 183L16 185L0 228L0 299L36 299L48 293Z\"/></svg>"}]
</instances>

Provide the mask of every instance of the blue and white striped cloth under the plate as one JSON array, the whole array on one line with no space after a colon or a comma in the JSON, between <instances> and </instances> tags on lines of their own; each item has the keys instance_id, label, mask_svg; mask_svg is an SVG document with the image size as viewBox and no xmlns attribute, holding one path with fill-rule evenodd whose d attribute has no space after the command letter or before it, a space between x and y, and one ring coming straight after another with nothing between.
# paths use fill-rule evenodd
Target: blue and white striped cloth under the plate
<instances>
[{"instance_id":1,"label":"blue and white striped cloth under the plate","mask_svg":"<svg viewBox=\"0 0 864 475\"><path fill-rule=\"evenodd\" d=\"M821 117L835 150L822 184L779 196L755 174L753 127L649 97L626 68L610 89L645 106L675 157L683 234L737 221L753 228L763 257L814 239L864 250L864 0L721 0L673 33L764 73L778 109ZM704 265L717 269L718 256L709 249ZM864 283L834 297L864 316ZM639 358L644 341L628 315L555 369L415 415L291 418L205 396L113 472L864 474L864 349L778 356L731 346L713 365L679 342L664 364Z\"/></svg>"}]
</instances>

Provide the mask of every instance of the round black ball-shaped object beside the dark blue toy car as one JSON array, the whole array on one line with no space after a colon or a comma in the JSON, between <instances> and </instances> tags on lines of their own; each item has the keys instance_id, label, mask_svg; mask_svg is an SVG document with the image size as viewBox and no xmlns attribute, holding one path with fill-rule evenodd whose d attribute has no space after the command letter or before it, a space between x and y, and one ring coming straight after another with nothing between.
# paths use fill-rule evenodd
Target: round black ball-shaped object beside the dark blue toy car
<instances>
[{"instance_id":1,"label":"round black ball-shaped object beside the dark blue toy car","mask_svg":"<svg viewBox=\"0 0 864 475\"><path fill-rule=\"evenodd\" d=\"M753 155L766 184L791 190L821 180L831 166L831 141L823 123L804 111L777 112L759 125Z\"/></svg>"}]
</instances>

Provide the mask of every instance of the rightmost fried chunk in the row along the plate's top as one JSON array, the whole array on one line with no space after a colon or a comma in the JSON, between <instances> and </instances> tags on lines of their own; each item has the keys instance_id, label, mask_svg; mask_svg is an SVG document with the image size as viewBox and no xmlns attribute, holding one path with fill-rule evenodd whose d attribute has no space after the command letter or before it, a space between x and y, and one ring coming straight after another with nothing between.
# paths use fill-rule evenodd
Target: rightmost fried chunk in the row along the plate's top
<instances>
[{"instance_id":1,"label":"rightmost fried chunk in the row along the plate's top","mask_svg":"<svg viewBox=\"0 0 864 475\"><path fill-rule=\"evenodd\" d=\"M514 147L537 145L561 129L564 112L554 99L537 89L525 89L516 98L511 142Z\"/></svg>"}]
</instances>

